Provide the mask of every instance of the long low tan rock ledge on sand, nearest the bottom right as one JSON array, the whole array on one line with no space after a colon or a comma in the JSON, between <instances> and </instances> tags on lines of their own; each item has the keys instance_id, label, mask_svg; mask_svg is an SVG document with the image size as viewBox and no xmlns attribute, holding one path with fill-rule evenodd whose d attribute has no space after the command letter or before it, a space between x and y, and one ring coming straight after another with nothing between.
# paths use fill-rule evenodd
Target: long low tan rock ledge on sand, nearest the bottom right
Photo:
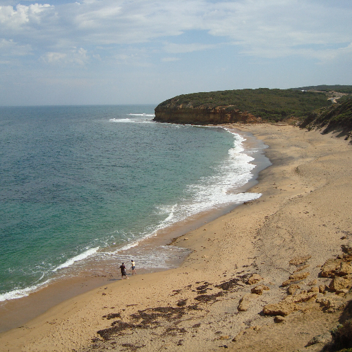
<instances>
[{"instance_id":1,"label":"long low tan rock ledge on sand, nearest the bottom right","mask_svg":"<svg viewBox=\"0 0 352 352\"><path fill-rule=\"evenodd\" d=\"M296 303L306 302L311 298L315 298L317 294L317 292L305 292L294 296L287 296L281 302L265 305L263 307L263 314L266 316L287 316L298 309Z\"/></svg>"}]
</instances>

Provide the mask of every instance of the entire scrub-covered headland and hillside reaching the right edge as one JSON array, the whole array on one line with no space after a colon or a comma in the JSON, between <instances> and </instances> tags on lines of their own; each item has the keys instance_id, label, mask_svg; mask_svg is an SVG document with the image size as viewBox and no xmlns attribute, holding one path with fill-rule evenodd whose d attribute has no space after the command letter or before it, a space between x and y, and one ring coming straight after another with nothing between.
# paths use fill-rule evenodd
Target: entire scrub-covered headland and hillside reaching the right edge
<instances>
[{"instance_id":1,"label":"entire scrub-covered headland and hillside reaching the right edge","mask_svg":"<svg viewBox=\"0 0 352 352\"><path fill-rule=\"evenodd\" d=\"M352 137L352 85L234 89L182 94L155 108L155 121L180 124L293 122Z\"/></svg>"}]
</instances>

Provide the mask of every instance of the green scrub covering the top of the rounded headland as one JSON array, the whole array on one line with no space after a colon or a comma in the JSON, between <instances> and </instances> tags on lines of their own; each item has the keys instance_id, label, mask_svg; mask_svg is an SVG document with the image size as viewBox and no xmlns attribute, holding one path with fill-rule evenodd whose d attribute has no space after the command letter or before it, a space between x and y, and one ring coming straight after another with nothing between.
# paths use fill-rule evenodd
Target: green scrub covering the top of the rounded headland
<instances>
[{"instance_id":1,"label":"green scrub covering the top of the rounded headland","mask_svg":"<svg viewBox=\"0 0 352 352\"><path fill-rule=\"evenodd\" d=\"M224 113L250 113L255 118L265 121L281 121L294 116L305 118L309 113L321 107L328 107L331 102L325 93L293 89L234 89L228 91L210 91L193 94L182 94L168 99L155 108L155 120L159 120L159 112L170 113L175 110L186 109L212 111L221 109ZM188 123L201 124L201 121ZM169 121L177 122L177 121ZM207 119L204 121L209 123ZM236 122L236 121L228 121ZM184 123L181 122L180 123ZM219 121L218 123L223 123Z\"/></svg>"}]
</instances>

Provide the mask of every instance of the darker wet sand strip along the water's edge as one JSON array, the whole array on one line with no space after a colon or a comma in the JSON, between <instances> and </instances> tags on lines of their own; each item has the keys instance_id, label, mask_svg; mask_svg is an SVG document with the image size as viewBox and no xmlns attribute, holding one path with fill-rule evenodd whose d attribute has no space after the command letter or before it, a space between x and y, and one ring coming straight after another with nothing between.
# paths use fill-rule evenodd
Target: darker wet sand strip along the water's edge
<instances>
[{"instance_id":1,"label":"darker wet sand strip along the water's edge","mask_svg":"<svg viewBox=\"0 0 352 352\"><path fill-rule=\"evenodd\" d=\"M253 173L252 179L241 188L236 188L236 192L246 192L246 190L257 183L256 179L259 172L270 165L270 162L264 154L266 146L263 146L263 143L257 140L251 133L241 132L238 129L230 130L231 132L239 133L241 137L245 138L243 141L243 147L245 149L243 153L254 157L254 160L251 162L251 164L255 165L255 168L251 171L251 173ZM136 258L140 253L152 253L153 249L165 248L171 241L175 241L177 237L199 228L203 223L214 221L214 219L221 217L223 214L231 212L236 206L239 206L239 204L232 203L228 206L222 206L219 209L202 212L190 219L181 221L181 223L175 223L168 226L168 228L159 230L158 233L153 236L139 240L137 245L131 246L128 250L122 250L116 254L116 257L120 256L122 261L128 262L126 259L127 256ZM175 253L171 253L173 254L173 258L168 260L168 262L170 262L168 267L155 268L145 267L144 265L144 267L141 268L140 261L137 261L137 272L139 274L146 274L179 267L190 251L186 248L182 248L182 246L179 247L179 250L176 250L175 246L173 246L173 249ZM119 261L112 259L101 265L99 263L87 265L87 270L83 267L83 270L81 270L77 276L54 278L52 283L41 287L28 296L0 302L0 333L5 333L10 329L25 325L25 323L30 320L44 314L47 309L63 303L69 298L85 294L91 291L91 289L97 289L103 285L109 285L113 281L120 281L120 270L118 269L120 266ZM91 267L91 265L95 266ZM68 269L70 270L70 268ZM128 265L127 269L129 273Z\"/></svg>"}]
</instances>

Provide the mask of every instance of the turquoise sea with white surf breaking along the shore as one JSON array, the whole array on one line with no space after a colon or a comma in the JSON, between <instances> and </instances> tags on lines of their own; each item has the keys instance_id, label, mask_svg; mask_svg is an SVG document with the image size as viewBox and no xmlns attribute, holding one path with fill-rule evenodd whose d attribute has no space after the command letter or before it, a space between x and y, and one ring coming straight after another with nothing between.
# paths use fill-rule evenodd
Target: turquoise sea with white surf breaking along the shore
<instances>
[{"instance_id":1,"label":"turquoise sea with white surf breaking along the shore","mask_svg":"<svg viewBox=\"0 0 352 352\"><path fill-rule=\"evenodd\" d=\"M259 197L236 192L254 168L239 135L155 123L153 111L0 108L0 300L199 212Z\"/></svg>"}]
</instances>

